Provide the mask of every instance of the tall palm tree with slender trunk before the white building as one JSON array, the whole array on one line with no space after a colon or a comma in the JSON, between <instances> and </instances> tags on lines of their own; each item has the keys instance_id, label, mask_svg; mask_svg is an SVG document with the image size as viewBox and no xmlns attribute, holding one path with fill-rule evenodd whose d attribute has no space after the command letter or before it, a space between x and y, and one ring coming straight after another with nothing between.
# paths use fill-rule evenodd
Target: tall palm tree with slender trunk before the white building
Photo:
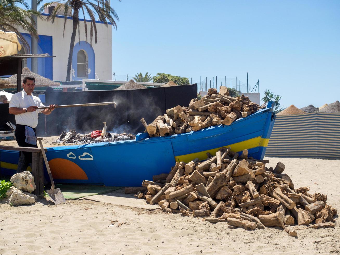
<instances>
[{"instance_id":1,"label":"tall palm tree with slender trunk before the white building","mask_svg":"<svg viewBox=\"0 0 340 255\"><path fill-rule=\"evenodd\" d=\"M43 2L44 0L38 0L38 4ZM120 1L120 0L118 0ZM58 1L51 1L43 4L41 6L40 11L43 11L45 8L55 6L52 13L47 17L47 20L50 20L52 23L54 22L57 13L59 11L63 11L64 13L64 33L65 33L65 26L67 21L67 14L69 10L73 11L72 14L72 35L71 35L71 43L70 43L70 51L68 54L68 61L67 61L67 73L66 73L66 81L71 80L71 63L72 63L72 54L73 54L73 47L75 41L75 35L77 32L78 26L80 26L79 22L79 15L83 13L84 19L85 15L90 17L90 44L92 45L92 37L93 32L95 32L95 43L97 43L97 27L96 27L96 18L95 15L98 15L99 20L104 22L107 26L107 20L112 23L112 26L117 29L116 21L119 21L119 17L116 11L111 8L107 0L58 0ZM85 40L87 41L87 24L84 21L85 27ZM64 34L63 34L64 36ZM80 32L78 29L78 37L80 37ZM80 38L79 38L80 40Z\"/></svg>"}]
</instances>

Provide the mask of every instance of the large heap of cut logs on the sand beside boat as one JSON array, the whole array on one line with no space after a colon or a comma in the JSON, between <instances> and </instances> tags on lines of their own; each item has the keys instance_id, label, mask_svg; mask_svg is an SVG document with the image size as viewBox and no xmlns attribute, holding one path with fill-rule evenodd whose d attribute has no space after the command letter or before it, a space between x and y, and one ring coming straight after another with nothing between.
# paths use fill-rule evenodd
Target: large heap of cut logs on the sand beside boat
<instances>
[{"instance_id":1,"label":"large heap of cut logs on the sand beside boat","mask_svg":"<svg viewBox=\"0 0 340 255\"><path fill-rule=\"evenodd\" d=\"M224 147L216 156L207 154L204 162L176 163L170 173L143 181L145 191L138 191L138 198L158 203L164 212L227 222L229 228L278 226L296 236L294 224L315 221L309 227L334 227L337 210L326 204L327 196L310 194L308 188L294 189L281 162L267 168L268 160L248 158L247 150L239 155ZM134 192L126 189L125 193Z\"/></svg>"}]
</instances>

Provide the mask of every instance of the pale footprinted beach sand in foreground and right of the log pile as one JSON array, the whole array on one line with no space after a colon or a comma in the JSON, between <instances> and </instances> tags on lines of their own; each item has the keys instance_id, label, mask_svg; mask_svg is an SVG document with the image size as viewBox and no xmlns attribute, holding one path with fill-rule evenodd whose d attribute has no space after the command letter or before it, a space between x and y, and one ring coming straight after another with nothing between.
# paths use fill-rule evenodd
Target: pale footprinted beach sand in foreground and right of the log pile
<instances>
[{"instance_id":1,"label":"pale footprinted beach sand in foreground and right of the log pile","mask_svg":"<svg viewBox=\"0 0 340 255\"><path fill-rule=\"evenodd\" d=\"M327 194L340 209L340 160L265 158L286 165L295 187ZM126 222L116 227L111 220ZM228 229L198 218L87 200L30 206L0 202L0 254L325 254L340 252L340 224L304 229L297 238L279 228Z\"/></svg>"}]
</instances>

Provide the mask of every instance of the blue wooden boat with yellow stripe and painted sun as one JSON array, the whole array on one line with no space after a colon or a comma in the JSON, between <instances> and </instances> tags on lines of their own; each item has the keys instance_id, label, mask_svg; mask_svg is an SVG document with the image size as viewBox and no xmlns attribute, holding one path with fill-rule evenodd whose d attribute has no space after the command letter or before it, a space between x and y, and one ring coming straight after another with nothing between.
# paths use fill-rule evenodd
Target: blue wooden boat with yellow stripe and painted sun
<instances>
[{"instance_id":1,"label":"blue wooden boat with yellow stripe and painted sun","mask_svg":"<svg viewBox=\"0 0 340 255\"><path fill-rule=\"evenodd\" d=\"M149 138L139 133L135 140L91 143L47 148L47 158L56 183L101 184L135 187L152 176L167 173L175 162L204 160L207 152L231 147L263 159L274 125L273 102L258 112L234 121L199 131ZM16 171L19 153L0 150L1 173Z\"/></svg>"}]
</instances>

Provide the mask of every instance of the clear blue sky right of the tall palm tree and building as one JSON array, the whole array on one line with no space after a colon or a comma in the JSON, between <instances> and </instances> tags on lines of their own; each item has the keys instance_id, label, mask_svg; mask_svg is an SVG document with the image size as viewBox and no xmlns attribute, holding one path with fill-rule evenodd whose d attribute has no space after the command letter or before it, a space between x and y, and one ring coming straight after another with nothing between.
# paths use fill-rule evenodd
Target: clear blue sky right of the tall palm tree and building
<instances>
[{"instance_id":1,"label":"clear blue sky right of the tall palm tree and building","mask_svg":"<svg viewBox=\"0 0 340 255\"><path fill-rule=\"evenodd\" d=\"M285 107L340 100L340 1L111 0L113 72L238 77Z\"/></svg>"}]
</instances>

